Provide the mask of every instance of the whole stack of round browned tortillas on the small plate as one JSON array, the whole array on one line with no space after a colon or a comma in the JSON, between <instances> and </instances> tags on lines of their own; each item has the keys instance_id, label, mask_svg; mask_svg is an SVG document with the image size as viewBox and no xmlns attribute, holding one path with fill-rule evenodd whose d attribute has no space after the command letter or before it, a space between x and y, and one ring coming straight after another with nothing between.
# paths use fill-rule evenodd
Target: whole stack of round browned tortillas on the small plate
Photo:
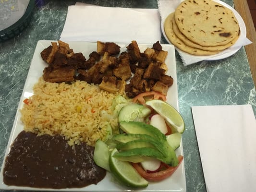
<instances>
[{"instance_id":1,"label":"whole stack of round browned tortillas on the small plate","mask_svg":"<svg viewBox=\"0 0 256 192\"><path fill-rule=\"evenodd\" d=\"M164 22L171 43L192 55L214 55L240 35L234 13L212 0L184 0Z\"/></svg>"}]
</instances>

